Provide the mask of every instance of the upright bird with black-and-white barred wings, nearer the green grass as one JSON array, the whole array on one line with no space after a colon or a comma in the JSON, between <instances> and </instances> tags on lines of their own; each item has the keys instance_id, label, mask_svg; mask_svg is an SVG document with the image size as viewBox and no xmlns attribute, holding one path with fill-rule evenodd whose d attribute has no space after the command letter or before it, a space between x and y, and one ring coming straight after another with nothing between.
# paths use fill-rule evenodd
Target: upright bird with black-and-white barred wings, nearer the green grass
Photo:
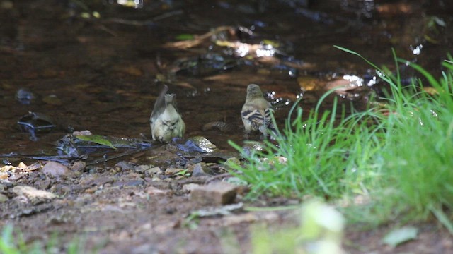
<instances>
[{"instance_id":1,"label":"upright bird with black-and-white barred wings, nearer the green grass","mask_svg":"<svg viewBox=\"0 0 453 254\"><path fill-rule=\"evenodd\" d=\"M274 139L277 131L272 122L273 109L266 99L259 85L250 84L247 87L246 102L241 110L241 118L246 133L260 131L264 138L267 138L268 131L271 131L270 138Z\"/></svg>"}]
</instances>

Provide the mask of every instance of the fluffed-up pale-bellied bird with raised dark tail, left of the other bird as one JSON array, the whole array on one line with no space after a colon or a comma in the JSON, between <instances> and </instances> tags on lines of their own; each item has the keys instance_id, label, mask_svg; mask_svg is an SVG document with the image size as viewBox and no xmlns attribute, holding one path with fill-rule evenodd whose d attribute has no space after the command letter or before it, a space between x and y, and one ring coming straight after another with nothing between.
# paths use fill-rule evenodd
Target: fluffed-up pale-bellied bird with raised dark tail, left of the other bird
<instances>
[{"instance_id":1,"label":"fluffed-up pale-bellied bird with raised dark tail, left of the other bird","mask_svg":"<svg viewBox=\"0 0 453 254\"><path fill-rule=\"evenodd\" d=\"M164 85L149 118L152 138L161 143L182 138L185 133L185 123L176 107L176 95L167 92L168 86Z\"/></svg>"}]
</instances>

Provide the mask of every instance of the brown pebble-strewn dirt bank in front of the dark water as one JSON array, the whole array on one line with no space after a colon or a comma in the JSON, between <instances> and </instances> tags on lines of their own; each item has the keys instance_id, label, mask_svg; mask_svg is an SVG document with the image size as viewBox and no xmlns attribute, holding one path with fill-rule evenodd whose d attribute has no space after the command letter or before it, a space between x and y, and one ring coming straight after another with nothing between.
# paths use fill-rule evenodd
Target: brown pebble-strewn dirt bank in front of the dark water
<instances>
[{"instance_id":1,"label":"brown pebble-strewn dirt bank in front of the dark water","mask_svg":"<svg viewBox=\"0 0 453 254\"><path fill-rule=\"evenodd\" d=\"M165 158L174 164L175 157L172 161L167 149L148 150L143 156L159 157L154 164ZM185 173L194 173L194 165L217 172L224 167L188 162ZM27 243L55 241L55 253L66 253L71 241L79 241L81 253L252 253L251 232L257 226L265 225L272 235L299 224L299 210L252 212L247 207L294 206L303 200L260 198L250 202L244 200L244 186L236 188L231 204L203 204L191 198L194 186L226 180L227 176L180 176L174 173L178 170L167 170L173 169L169 166L125 161L114 167L98 166L10 171L8 181L0 182L0 193L7 197L0 206L0 227L12 224ZM396 248L386 246L382 238L394 226L365 229L348 224L342 241L345 253L453 251L452 235L435 223L414 225L419 229L416 240Z\"/></svg>"}]
</instances>

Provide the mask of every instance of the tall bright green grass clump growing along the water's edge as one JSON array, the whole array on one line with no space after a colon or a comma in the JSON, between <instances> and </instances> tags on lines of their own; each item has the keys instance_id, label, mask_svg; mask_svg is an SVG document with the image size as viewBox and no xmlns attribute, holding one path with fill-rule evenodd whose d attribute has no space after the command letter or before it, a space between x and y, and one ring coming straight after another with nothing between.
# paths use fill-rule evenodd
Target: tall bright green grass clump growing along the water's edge
<instances>
[{"instance_id":1,"label":"tall bright green grass clump growing along the water's edge","mask_svg":"<svg viewBox=\"0 0 453 254\"><path fill-rule=\"evenodd\" d=\"M453 208L453 64L443 63L445 71L439 80L411 64L425 83L414 79L403 87L398 70L393 74L356 52L337 48L376 69L389 87L387 96L380 98L384 106L345 116L334 101L330 111L321 113L329 91L308 112L308 119L302 120L307 112L294 104L283 135L277 138L278 146L265 142L265 152L243 154L248 159L245 168L234 166L241 172L237 175L251 185L248 197L352 200L363 195L368 201L356 206L362 214L351 212L358 221L398 218L407 222L434 215L453 233L449 212ZM406 61L395 56L395 63ZM438 94L428 94L424 86L435 88ZM276 157L285 157L287 162L275 162Z\"/></svg>"}]
</instances>

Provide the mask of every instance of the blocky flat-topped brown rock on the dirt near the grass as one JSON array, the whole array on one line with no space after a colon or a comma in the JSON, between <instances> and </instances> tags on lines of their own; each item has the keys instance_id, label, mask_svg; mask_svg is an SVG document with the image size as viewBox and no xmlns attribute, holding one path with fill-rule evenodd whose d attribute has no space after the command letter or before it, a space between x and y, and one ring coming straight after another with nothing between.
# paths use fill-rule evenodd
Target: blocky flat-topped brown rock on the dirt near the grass
<instances>
[{"instance_id":1,"label":"blocky flat-topped brown rock on the dirt near the grass","mask_svg":"<svg viewBox=\"0 0 453 254\"><path fill-rule=\"evenodd\" d=\"M236 186L231 183L214 182L192 190L190 200L201 205L226 205L234 202Z\"/></svg>"}]
</instances>

